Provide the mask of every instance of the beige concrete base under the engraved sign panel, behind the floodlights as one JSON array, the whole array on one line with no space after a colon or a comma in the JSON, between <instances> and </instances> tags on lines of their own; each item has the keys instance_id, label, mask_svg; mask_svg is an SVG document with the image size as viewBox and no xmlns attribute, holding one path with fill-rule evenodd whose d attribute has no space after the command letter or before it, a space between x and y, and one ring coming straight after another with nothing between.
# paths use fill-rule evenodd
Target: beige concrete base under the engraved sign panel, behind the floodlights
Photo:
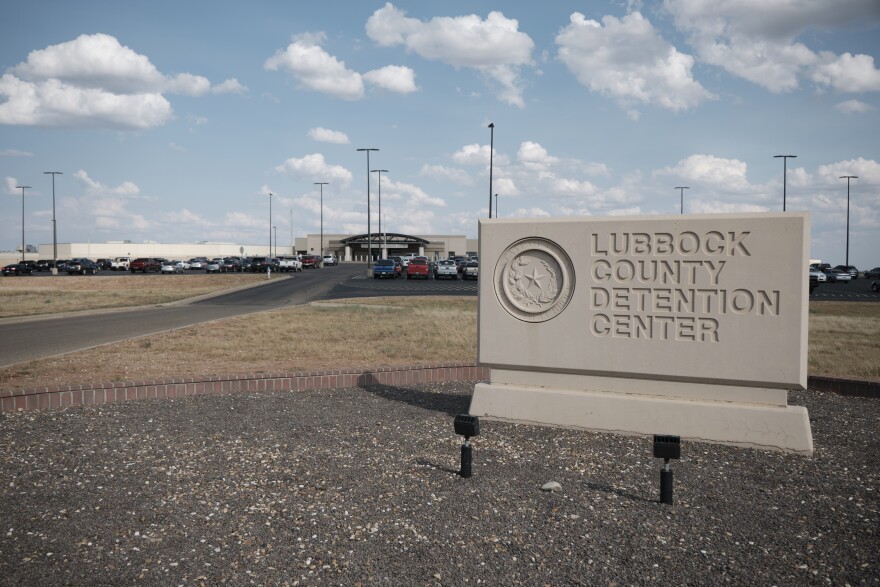
<instances>
[{"instance_id":1,"label":"beige concrete base under the engraved sign panel, behind the floodlights","mask_svg":"<svg viewBox=\"0 0 880 587\"><path fill-rule=\"evenodd\" d=\"M524 384L514 384L519 375ZM720 393L722 386L698 383L639 381L627 390L626 381L605 379L601 387L554 389L534 385L546 373L492 369L490 383L474 388L470 414L487 420L539 424L615 434L675 434L689 440L717 442L748 448L812 454L813 437L807 409L801 406L724 400L698 400ZM503 383L501 383L503 382ZM630 381L631 383L636 383ZM652 384L674 387L671 395L647 395ZM612 387L614 390L608 390ZM760 396L780 390L749 390Z\"/></svg>"}]
</instances>

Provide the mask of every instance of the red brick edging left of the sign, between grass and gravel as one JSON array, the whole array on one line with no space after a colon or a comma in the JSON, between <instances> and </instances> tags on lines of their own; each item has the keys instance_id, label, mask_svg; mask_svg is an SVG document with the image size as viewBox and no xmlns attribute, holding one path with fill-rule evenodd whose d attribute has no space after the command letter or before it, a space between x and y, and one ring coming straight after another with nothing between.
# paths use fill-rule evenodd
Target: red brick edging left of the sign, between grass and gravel
<instances>
[{"instance_id":1,"label":"red brick edging left of the sign, between grass and gravel","mask_svg":"<svg viewBox=\"0 0 880 587\"><path fill-rule=\"evenodd\" d=\"M0 413L215 393L306 391L363 385L417 385L446 381L482 381L488 378L489 368L476 363L436 363L377 369L256 373L152 381L114 381L33 389L0 389Z\"/></svg>"}]
</instances>

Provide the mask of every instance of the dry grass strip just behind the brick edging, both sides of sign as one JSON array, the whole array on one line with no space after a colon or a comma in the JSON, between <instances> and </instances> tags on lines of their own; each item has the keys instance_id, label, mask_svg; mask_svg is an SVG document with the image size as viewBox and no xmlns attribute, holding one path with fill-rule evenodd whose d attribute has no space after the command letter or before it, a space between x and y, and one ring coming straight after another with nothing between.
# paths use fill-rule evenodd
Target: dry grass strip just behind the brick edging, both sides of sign
<instances>
[{"instance_id":1,"label":"dry grass strip just behind the brick edging, both sides of sign","mask_svg":"<svg viewBox=\"0 0 880 587\"><path fill-rule=\"evenodd\" d=\"M322 302L0 369L0 387L474 361L476 311L461 297ZM811 375L880 381L880 304L813 302L809 359Z\"/></svg>"}]
</instances>

